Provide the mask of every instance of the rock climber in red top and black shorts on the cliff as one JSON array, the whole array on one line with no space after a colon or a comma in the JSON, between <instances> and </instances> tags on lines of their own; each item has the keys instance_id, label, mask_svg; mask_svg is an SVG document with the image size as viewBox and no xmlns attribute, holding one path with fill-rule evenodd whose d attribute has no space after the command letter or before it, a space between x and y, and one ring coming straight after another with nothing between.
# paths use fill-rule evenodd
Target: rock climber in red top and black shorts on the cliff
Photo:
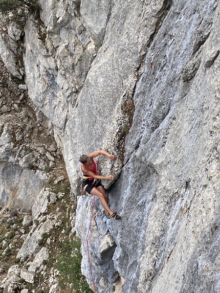
<instances>
[{"instance_id":1,"label":"rock climber in red top and black shorts on the cliff","mask_svg":"<svg viewBox=\"0 0 220 293\"><path fill-rule=\"evenodd\" d=\"M81 162L81 170L83 172L83 187L84 190L89 194L94 194L99 197L100 202L105 210L107 218L114 218L115 220L121 219L117 213L114 213L108 206L108 197L106 195L105 189L102 186L100 180L113 180L113 175L100 176L97 172L97 164L94 162L93 158L103 154L109 157L111 161L117 159L117 155L109 154L104 150L98 150L92 152L88 155L81 155L79 162Z\"/></svg>"}]
</instances>

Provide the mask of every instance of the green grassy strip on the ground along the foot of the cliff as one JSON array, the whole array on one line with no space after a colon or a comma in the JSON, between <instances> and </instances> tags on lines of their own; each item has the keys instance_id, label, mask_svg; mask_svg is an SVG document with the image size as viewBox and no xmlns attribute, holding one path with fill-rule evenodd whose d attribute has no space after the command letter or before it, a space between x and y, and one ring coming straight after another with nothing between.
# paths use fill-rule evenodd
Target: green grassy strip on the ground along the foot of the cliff
<instances>
[{"instance_id":1,"label":"green grassy strip on the ground along the foot of the cliff","mask_svg":"<svg viewBox=\"0 0 220 293\"><path fill-rule=\"evenodd\" d=\"M67 217L67 209L69 209L69 213L74 213L75 210L70 204L70 197L68 197L70 193L70 183L69 181L62 181L54 186L53 181L54 178L51 178L51 182L48 182L51 191L55 193L62 192L65 195L63 198L58 199L55 205L48 206L48 213L54 213L59 203L59 212L61 212L62 216L59 218L60 226L57 228L54 227L49 234L51 244L54 243L55 246L52 248L51 244L48 245L48 249L52 251L52 253L46 265L49 270L52 267L58 269L59 275L57 278L59 281L60 293L91 293L92 290L87 284L85 277L81 274L81 241L75 234L71 234L71 223L69 217ZM71 211L70 207L72 208ZM72 289L68 284L73 284Z\"/></svg>"}]
</instances>

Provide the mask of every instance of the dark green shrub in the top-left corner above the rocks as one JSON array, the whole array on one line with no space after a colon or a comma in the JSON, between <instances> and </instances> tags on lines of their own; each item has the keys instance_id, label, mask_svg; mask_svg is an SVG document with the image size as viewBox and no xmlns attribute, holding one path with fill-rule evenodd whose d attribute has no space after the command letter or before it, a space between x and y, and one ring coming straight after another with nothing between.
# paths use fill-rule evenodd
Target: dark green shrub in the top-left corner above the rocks
<instances>
[{"instance_id":1,"label":"dark green shrub in the top-left corner above the rocks","mask_svg":"<svg viewBox=\"0 0 220 293\"><path fill-rule=\"evenodd\" d=\"M23 28L28 14L39 15L41 8L38 0L0 0L0 11L6 24L10 22Z\"/></svg>"}]
</instances>

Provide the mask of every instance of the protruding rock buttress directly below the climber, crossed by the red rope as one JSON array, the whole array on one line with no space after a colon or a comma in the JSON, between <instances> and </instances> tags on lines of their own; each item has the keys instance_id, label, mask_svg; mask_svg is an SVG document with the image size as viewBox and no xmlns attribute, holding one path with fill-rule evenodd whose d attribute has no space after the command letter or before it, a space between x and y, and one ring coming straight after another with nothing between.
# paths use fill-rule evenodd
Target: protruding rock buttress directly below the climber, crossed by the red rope
<instances>
[{"instance_id":1,"label":"protruding rock buttress directly below the climber, crossed by the red rope","mask_svg":"<svg viewBox=\"0 0 220 293\"><path fill-rule=\"evenodd\" d=\"M78 217L76 219L76 227L79 237L82 239L82 273L89 279L91 275L88 270L88 257L86 237L90 226L90 216L83 219L83 214L91 215L93 206L93 197L80 198L78 201ZM118 273L114 268L112 257L114 255L116 245L112 236L108 232L106 222L103 222L103 212L100 210L99 200L95 200L94 214L96 217L92 220L89 239L90 259L93 264L93 275L96 278L97 287L104 287L106 291L113 290L113 283L118 277ZM81 221L84 224L81 224ZM101 274L96 272L101 271ZM89 274L88 274L89 273ZM100 285L101 284L101 285Z\"/></svg>"}]
</instances>

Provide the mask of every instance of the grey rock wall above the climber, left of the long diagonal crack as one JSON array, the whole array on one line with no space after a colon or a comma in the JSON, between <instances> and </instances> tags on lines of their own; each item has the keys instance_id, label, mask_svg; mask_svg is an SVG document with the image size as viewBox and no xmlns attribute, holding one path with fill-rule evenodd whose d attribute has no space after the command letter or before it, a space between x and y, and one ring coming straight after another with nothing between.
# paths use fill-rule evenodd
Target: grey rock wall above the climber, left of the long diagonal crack
<instances>
[{"instance_id":1,"label":"grey rock wall above the climber, left of the long diagonal crack","mask_svg":"<svg viewBox=\"0 0 220 293\"><path fill-rule=\"evenodd\" d=\"M53 125L73 188L82 152L124 148L140 66L170 2L103 3L98 18L96 5L90 10L83 2L43 2L43 22L32 17L25 31L29 95ZM123 155L116 176L122 162Z\"/></svg>"}]
</instances>

